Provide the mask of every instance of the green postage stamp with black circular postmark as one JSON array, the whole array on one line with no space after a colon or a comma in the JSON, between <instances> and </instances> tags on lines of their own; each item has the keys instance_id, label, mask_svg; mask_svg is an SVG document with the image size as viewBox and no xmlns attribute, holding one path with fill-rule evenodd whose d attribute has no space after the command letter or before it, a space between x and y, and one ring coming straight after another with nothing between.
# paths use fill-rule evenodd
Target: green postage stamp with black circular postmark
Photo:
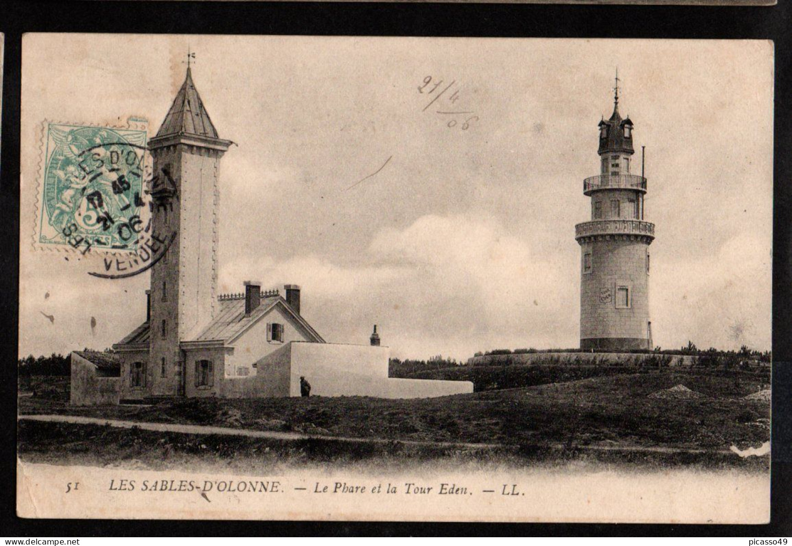
<instances>
[{"instance_id":1,"label":"green postage stamp with black circular postmark","mask_svg":"<svg viewBox=\"0 0 792 546\"><path fill-rule=\"evenodd\" d=\"M126 128L44 122L37 248L135 252L147 168L147 122Z\"/></svg>"}]
</instances>

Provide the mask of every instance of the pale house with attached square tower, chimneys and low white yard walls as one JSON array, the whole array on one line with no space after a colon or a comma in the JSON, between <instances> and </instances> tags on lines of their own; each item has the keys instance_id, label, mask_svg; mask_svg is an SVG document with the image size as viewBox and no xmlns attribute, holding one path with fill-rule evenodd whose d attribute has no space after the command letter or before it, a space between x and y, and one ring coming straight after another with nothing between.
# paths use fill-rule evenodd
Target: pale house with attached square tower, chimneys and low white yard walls
<instances>
[{"instance_id":1,"label":"pale house with attached square tower, chimneys and low white yard walls","mask_svg":"<svg viewBox=\"0 0 792 546\"><path fill-rule=\"evenodd\" d=\"M470 381L388 377L389 350L376 332L371 345L326 343L301 315L297 285L284 286L281 295L245 282L244 292L217 294L219 166L230 144L219 138L188 68L149 141L154 173L167 173L174 184L152 192L158 206L151 226L176 237L151 267L145 322L113 345L117 399L299 396L300 376L320 396L473 392ZM83 361L91 362L90 355L72 354L73 402L107 403L106 396L93 396L95 381L77 381L79 370L91 371Z\"/></svg>"}]
</instances>

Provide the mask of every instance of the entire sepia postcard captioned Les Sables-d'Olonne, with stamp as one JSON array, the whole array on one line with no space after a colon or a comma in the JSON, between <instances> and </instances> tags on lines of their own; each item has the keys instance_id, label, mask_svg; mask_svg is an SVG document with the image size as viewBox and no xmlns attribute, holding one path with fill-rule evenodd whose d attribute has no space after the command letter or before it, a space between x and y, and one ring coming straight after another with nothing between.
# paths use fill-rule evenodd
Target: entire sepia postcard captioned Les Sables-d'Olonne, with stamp
<instances>
[{"instance_id":1,"label":"entire sepia postcard captioned Les Sables-d'Olonne, with stamp","mask_svg":"<svg viewBox=\"0 0 792 546\"><path fill-rule=\"evenodd\" d=\"M17 514L769 518L772 44L21 55Z\"/></svg>"}]
</instances>

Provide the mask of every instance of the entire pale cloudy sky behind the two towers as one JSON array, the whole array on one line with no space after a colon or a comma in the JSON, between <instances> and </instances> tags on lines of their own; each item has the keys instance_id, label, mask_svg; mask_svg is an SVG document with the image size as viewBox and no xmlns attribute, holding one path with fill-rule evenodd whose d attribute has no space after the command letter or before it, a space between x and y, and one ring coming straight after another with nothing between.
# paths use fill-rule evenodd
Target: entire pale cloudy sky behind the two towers
<instances>
[{"instance_id":1,"label":"entire pale cloudy sky behind the two towers","mask_svg":"<svg viewBox=\"0 0 792 546\"><path fill-rule=\"evenodd\" d=\"M109 347L145 318L148 287L32 248L43 121L139 116L153 134L188 47L238 145L221 171L220 290L298 283L326 339L367 343L376 323L401 358L577 347L574 225L618 66L657 226L655 344L770 348L768 42L27 35L22 355Z\"/></svg>"}]
</instances>

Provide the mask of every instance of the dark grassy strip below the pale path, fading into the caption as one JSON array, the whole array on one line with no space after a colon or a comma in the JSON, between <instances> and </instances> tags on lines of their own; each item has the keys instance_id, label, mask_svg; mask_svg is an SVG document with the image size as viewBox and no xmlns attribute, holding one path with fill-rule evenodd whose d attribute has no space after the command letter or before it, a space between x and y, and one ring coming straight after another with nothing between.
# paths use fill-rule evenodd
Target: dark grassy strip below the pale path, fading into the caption
<instances>
[{"instance_id":1,"label":"dark grassy strip below the pale path, fading into the caption","mask_svg":"<svg viewBox=\"0 0 792 546\"><path fill-rule=\"evenodd\" d=\"M531 444L485 449L415 446L402 442L363 442L350 446L348 442L317 438L280 441L25 421L19 425L19 452L24 461L34 463L151 470L189 468L191 472L247 474L311 466L343 466L364 471L387 468L391 472L401 472L438 461L442 461L445 471L528 467L596 472L608 468L637 472L670 468L769 470L768 457L742 459L723 453L592 451L573 446L557 448Z\"/></svg>"}]
</instances>

